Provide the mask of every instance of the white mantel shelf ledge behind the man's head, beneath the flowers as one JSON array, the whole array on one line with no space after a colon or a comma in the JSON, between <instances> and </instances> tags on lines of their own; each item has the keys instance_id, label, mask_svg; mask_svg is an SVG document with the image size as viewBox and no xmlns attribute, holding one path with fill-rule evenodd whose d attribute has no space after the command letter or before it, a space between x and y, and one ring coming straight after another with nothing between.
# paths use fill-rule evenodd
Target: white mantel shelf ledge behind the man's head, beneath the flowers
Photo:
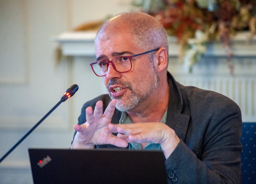
<instances>
[{"instance_id":1,"label":"white mantel shelf ledge behind the man's head, beneath the flowers","mask_svg":"<svg viewBox=\"0 0 256 184\"><path fill-rule=\"evenodd\" d=\"M236 34L232 37L232 51L234 56L248 57L256 56L256 36L252 39L250 44L246 43L249 33L244 32ZM62 54L64 56L94 56L94 38L96 32L64 32L55 37L54 40L59 42L62 46ZM178 56L179 46L174 37L169 37L170 43L170 56ZM226 56L222 45L219 42L208 44L208 49L205 56Z\"/></svg>"}]
</instances>

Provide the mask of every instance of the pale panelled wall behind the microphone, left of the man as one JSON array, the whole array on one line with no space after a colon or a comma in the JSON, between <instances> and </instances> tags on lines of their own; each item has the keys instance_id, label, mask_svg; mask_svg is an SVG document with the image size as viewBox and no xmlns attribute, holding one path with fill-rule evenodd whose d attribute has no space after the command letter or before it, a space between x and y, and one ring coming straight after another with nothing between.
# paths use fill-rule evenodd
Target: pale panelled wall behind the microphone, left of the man
<instances>
[{"instance_id":1,"label":"pale panelled wall behind the microphone, left of the man","mask_svg":"<svg viewBox=\"0 0 256 184\"><path fill-rule=\"evenodd\" d=\"M0 157L77 82L72 60L56 66L53 36L128 10L130 0L0 0ZM1 184L32 183L28 148L70 147L78 109L92 96L87 91L62 103L0 163Z\"/></svg>"}]
</instances>

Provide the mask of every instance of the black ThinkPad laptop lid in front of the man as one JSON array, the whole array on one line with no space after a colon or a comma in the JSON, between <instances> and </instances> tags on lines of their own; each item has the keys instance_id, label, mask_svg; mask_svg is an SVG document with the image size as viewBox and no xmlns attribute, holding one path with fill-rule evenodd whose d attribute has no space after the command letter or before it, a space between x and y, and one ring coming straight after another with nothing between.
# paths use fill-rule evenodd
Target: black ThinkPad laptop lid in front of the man
<instances>
[{"instance_id":1,"label":"black ThinkPad laptop lid in front of the man","mask_svg":"<svg viewBox=\"0 0 256 184\"><path fill-rule=\"evenodd\" d=\"M161 151L29 148L34 184L167 183Z\"/></svg>"}]
</instances>

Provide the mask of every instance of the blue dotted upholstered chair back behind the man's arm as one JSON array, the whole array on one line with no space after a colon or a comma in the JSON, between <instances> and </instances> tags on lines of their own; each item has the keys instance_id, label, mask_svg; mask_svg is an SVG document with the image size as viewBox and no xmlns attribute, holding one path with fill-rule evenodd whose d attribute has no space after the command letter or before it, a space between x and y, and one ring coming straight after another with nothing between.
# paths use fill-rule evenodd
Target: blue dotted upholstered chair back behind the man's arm
<instances>
[{"instance_id":1,"label":"blue dotted upholstered chair back behind the man's arm","mask_svg":"<svg viewBox=\"0 0 256 184\"><path fill-rule=\"evenodd\" d=\"M242 183L256 184L256 123L242 123Z\"/></svg>"}]
</instances>

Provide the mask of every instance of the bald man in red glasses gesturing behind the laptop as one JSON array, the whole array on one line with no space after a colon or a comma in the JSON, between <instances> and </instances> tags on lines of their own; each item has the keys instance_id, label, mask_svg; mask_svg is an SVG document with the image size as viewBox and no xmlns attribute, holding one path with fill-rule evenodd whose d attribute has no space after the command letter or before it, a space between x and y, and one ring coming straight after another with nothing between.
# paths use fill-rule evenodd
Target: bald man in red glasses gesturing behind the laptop
<instances>
[{"instance_id":1,"label":"bald man in red glasses gesturing behind the laptop","mask_svg":"<svg viewBox=\"0 0 256 184\"><path fill-rule=\"evenodd\" d=\"M84 104L72 149L162 150L169 183L240 183L239 107L174 80L168 36L156 19L114 16L98 31L95 48L90 65L109 94Z\"/></svg>"}]
</instances>

